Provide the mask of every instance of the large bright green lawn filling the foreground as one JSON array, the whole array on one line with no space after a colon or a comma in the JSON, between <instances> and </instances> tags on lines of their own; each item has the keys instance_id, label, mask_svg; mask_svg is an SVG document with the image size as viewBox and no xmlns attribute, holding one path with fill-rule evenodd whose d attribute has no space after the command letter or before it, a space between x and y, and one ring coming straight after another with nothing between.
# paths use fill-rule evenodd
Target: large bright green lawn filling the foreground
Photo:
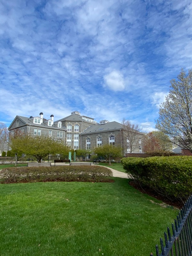
<instances>
[{"instance_id":1,"label":"large bright green lawn filling the foreground","mask_svg":"<svg viewBox=\"0 0 192 256\"><path fill-rule=\"evenodd\" d=\"M176 210L114 183L0 184L1 256L148 256ZM153 200L155 203L152 203Z\"/></svg>"}]
</instances>

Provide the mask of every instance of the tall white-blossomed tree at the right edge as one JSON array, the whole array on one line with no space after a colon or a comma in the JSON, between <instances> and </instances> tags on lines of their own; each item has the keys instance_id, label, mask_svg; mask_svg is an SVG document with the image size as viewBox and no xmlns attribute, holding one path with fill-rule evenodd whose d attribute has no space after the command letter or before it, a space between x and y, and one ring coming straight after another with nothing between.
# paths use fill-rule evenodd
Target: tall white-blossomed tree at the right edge
<instances>
[{"instance_id":1,"label":"tall white-blossomed tree at the right edge","mask_svg":"<svg viewBox=\"0 0 192 256\"><path fill-rule=\"evenodd\" d=\"M169 140L192 152L192 69L181 69L177 80L170 81L170 91L159 109L156 128Z\"/></svg>"}]
</instances>

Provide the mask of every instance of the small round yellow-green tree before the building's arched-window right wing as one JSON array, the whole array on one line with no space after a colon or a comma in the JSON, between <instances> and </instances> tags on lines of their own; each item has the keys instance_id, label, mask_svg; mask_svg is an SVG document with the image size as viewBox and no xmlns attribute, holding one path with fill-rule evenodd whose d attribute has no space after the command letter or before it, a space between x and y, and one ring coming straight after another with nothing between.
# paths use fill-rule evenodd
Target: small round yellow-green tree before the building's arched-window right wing
<instances>
[{"instance_id":1,"label":"small round yellow-green tree before the building's arched-window right wing","mask_svg":"<svg viewBox=\"0 0 192 256\"><path fill-rule=\"evenodd\" d=\"M101 147L96 147L94 149L95 154L102 156L109 160L109 165L111 164L111 159L122 156L122 148L115 147L113 145L105 144Z\"/></svg>"}]
</instances>

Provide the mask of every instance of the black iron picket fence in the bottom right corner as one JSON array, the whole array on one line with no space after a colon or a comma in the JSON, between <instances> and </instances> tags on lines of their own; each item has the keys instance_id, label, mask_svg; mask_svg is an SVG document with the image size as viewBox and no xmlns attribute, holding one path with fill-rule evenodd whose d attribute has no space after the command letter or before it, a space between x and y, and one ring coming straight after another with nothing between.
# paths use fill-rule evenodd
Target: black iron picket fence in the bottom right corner
<instances>
[{"instance_id":1,"label":"black iron picket fence in the bottom right corner","mask_svg":"<svg viewBox=\"0 0 192 256\"><path fill-rule=\"evenodd\" d=\"M156 245L156 256L192 255L192 196L190 196L172 223L172 236L169 227L164 232L164 241L160 238L161 254ZM153 253L150 254L153 256Z\"/></svg>"}]
</instances>

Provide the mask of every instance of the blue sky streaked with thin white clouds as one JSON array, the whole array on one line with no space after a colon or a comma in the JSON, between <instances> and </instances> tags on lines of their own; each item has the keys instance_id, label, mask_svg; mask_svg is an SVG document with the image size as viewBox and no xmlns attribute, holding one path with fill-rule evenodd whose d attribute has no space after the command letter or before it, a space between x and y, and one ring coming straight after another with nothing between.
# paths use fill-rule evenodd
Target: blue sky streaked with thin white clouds
<instances>
[{"instance_id":1,"label":"blue sky streaked with thin white clouds","mask_svg":"<svg viewBox=\"0 0 192 256\"><path fill-rule=\"evenodd\" d=\"M73 111L155 129L192 68L191 0L0 0L0 122Z\"/></svg>"}]
</instances>

